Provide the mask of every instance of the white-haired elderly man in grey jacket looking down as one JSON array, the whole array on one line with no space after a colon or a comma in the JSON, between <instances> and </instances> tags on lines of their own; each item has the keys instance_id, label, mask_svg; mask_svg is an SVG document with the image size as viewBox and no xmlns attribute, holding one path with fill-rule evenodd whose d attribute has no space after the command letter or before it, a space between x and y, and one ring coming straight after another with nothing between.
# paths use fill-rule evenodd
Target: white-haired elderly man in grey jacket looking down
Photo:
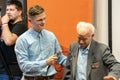
<instances>
[{"instance_id":1,"label":"white-haired elderly man in grey jacket looking down","mask_svg":"<svg viewBox=\"0 0 120 80\"><path fill-rule=\"evenodd\" d=\"M77 24L78 41L71 43L63 80L118 80L120 63L108 46L93 39L91 23Z\"/></svg>"}]
</instances>

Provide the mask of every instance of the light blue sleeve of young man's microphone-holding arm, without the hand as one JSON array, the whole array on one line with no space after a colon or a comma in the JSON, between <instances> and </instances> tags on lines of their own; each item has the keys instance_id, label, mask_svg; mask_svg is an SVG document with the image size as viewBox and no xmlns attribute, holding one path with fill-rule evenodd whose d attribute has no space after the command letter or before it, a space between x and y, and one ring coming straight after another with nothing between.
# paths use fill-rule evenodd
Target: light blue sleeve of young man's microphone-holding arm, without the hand
<instances>
[{"instance_id":1,"label":"light blue sleeve of young man's microphone-holding arm, without the hand","mask_svg":"<svg viewBox=\"0 0 120 80\"><path fill-rule=\"evenodd\" d=\"M29 59L28 44L25 39L18 38L15 45L15 53L20 69L25 72L37 72L40 68L47 66L45 60L35 61Z\"/></svg>"}]
</instances>

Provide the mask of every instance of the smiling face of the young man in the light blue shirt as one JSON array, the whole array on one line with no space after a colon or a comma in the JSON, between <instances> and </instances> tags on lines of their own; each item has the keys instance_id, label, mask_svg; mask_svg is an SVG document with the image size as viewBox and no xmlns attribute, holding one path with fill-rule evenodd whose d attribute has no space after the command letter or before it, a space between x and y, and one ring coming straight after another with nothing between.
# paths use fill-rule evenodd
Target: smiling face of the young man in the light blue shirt
<instances>
[{"instance_id":1,"label":"smiling face of the young man in the light blue shirt","mask_svg":"<svg viewBox=\"0 0 120 80\"><path fill-rule=\"evenodd\" d=\"M46 15L45 12L36 15L35 17L30 18L29 20L32 24L32 27L36 31L41 31L44 29L45 21L46 21Z\"/></svg>"}]
</instances>

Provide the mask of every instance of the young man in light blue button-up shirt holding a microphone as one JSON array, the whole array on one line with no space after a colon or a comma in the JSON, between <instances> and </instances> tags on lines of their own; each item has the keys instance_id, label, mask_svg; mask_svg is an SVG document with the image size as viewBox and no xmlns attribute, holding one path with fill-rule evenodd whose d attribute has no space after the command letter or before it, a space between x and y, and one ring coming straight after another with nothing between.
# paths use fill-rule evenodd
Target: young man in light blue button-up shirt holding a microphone
<instances>
[{"instance_id":1,"label":"young man in light blue button-up shirt holding a microphone","mask_svg":"<svg viewBox=\"0 0 120 80\"><path fill-rule=\"evenodd\" d=\"M66 56L61 53L57 38L46 30L46 14L39 5L28 10L31 28L16 41L15 52L23 80L53 80L56 70L54 64L65 66Z\"/></svg>"}]
</instances>

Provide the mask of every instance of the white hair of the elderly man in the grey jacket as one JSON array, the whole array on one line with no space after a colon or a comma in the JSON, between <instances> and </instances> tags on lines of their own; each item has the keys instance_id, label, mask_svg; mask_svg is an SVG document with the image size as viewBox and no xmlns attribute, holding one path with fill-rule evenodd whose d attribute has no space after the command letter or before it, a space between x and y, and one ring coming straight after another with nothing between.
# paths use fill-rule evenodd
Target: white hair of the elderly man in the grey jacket
<instances>
[{"instance_id":1,"label":"white hair of the elderly man in the grey jacket","mask_svg":"<svg viewBox=\"0 0 120 80\"><path fill-rule=\"evenodd\" d=\"M79 22L79 23L77 24L77 32L78 32L78 33L79 33L79 29L80 29L81 27L89 28L92 34L95 33L95 27L94 27L91 23L88 23L88 22Z\"/></svg>"}]
</instances>

